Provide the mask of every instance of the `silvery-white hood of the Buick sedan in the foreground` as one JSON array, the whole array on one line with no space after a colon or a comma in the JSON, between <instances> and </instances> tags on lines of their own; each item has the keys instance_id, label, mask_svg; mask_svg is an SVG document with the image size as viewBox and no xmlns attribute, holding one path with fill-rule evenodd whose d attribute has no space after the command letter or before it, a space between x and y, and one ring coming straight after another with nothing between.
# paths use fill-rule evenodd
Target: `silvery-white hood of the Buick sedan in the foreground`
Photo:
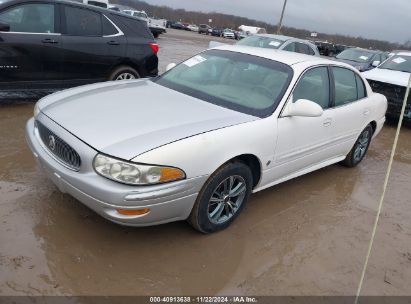
<instances>
[{"instance_id":1,"label":"silvery-white hood of the Buick sedan in the foreground","mask_svg":"<svg viewBox=\"0 0 411 304\"><path fill-rule=\"evenodd\" d=\"M258 119L146 79L70 89L43 98L38 106L97 151L122 159Z\"/></svg>"}]
</instances>

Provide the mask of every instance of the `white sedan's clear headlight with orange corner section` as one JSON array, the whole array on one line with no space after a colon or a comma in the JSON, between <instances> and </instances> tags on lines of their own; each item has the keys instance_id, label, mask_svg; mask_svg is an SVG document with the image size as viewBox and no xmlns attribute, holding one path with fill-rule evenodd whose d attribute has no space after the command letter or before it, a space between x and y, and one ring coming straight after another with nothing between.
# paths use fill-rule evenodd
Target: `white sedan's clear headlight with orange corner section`
<instances>
[{"instance_id":1,"label":"white sedan's clear headlight with orange corner section","mask_svg":"<svg viewBox=\"0 0 411 304\"><path fill-rule=\"evenodd\" d=\"M128 185L153 185L186 178L178 168L136 164L102 154L94 158L93 166L98 174Z\"/></svg>"}]
</instances>

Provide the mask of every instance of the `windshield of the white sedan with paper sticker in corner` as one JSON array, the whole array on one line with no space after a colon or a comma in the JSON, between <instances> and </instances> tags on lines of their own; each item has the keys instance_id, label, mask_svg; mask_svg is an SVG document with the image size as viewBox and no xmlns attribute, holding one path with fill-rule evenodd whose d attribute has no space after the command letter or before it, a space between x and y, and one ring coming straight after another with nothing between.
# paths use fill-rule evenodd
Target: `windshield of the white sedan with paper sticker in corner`
<instances>
[{"instance_id":1,"label":"windshield of the white sedan with paper sticker in corner","mask_svg":"<svg viewBox=\"0 0 411 304\"><path fill-rule=\"evenodd\" d=\"M283 63L210 50L153 81L224 108L266 117L278 106L292 75L291 67Z\"/></svg>"}]
</instances>

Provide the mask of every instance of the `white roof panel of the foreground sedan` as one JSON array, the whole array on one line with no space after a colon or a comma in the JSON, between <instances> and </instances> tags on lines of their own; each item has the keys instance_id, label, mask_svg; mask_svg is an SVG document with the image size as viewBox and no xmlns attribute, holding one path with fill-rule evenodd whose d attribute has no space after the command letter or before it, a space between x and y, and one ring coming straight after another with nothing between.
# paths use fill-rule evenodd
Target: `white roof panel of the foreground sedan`
<instances>
[{"instance_id":1,"label":"white roof panel of the foreground sedan","mask_svg":"<svg viewBox=\"0 0 411 304\"><path fill-rule=\"evenodd\" d=\"M318 64L318 65L320 64L334 64L335 65L337 63L336 61L325 59L322 57L310 56L310 55L294 53L294 52L266 49L266 48L258 48L258 47L253 47L253 46L222 45L222 46L218 46L213 49L258 56L258 57L262 57L266 59L275 60L275 61L287 64L290 66L295 65L297 63L302 63L302 62L312 62L313 64ZM341 64L341 65L346 66L345 64Z\"/></svg>"}]
</instances>

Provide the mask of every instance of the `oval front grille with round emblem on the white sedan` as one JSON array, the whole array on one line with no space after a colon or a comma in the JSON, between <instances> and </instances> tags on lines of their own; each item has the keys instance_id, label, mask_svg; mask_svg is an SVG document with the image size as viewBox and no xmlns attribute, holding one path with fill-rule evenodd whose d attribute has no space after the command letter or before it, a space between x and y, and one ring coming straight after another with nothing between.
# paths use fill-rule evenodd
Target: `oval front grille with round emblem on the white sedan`
<instances>
[{"instance_id":1,"label":"oval front grille with round emblem on the white sedan","mask_svg":"<svg viewBox=\"0 0 411 304\"><path fill-rule=\"evenodd\" d=\"M42 123L36 121L36 125L41 141L47 150L64 165L72 170L78 171L81 165L80 155Z\"/></svg>"}]
</instances>

